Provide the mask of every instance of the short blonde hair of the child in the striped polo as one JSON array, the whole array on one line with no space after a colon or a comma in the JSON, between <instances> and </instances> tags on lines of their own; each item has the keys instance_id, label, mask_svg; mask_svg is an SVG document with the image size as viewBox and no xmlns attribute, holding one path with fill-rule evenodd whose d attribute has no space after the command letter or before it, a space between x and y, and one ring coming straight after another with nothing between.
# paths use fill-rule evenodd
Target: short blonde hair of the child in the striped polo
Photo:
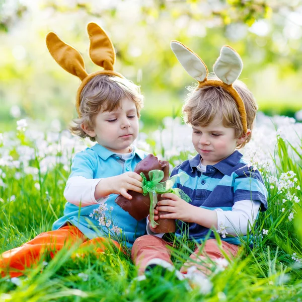
<instances>
[{"instance_id":1,"label":"short blonde hair of the child in the striped polo","mask_svg":"<svg viewBox=\"0 0 302 302\"><path fill-rule=\"evenodd\" d=\"M217 80L217 78L211 77ZM253 94L247 86L237 80L233 84L242 98L247 112L248 129L253 130L253 124L256 117L258 106ZM204 86L192 91L188 94L183 106L184 121L193 126L207 126L214 119L216 114L222 114L222 124L224 127L235 129L235 138L241 137L243 126L238 106L233 97L222 87ZM252 133L251 133L252 134ZM251 139L251 134L247 139L237 146L243 147Z\"/></svg>"}]
</instances>

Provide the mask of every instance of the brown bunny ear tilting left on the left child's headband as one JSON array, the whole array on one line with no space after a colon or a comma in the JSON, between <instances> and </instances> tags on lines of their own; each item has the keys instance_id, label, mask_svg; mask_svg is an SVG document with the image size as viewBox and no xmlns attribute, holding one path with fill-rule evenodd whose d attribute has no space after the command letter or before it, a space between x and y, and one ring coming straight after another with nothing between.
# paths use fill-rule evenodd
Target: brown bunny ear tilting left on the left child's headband
<instances>
[{"instance_id":1,"label":"brown bunny ear tilting left on the left child's headband","mask_svg":"<svg viewBox=\"0 0 302 302\"><path fill-rule=\"evenodd\" d=\"M87 77L84 60L80 52L65 44L53 32L46 36L47 48L56 62L69 73L83 81Z\"/></svg>"}]
</instances>

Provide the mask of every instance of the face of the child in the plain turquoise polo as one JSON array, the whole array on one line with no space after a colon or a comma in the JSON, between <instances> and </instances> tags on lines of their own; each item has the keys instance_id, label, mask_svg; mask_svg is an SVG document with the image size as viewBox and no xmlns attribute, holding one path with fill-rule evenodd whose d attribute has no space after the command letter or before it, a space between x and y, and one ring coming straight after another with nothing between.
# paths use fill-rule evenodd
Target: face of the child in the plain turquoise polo
<instances>
[{"instance_id":1,"label":"face of the child in the plain turquoise polo","mask_svg":"<svg viewBox=\"0 0 302 302\"><path fill-rule=\"evenodd\" d=\"M113 111L100 112L95 117L95 126L84 131L96 141L115 153L129 153L129 146L138 135L138 117L135 103L127 98Z\"/></svg>"}]
</instances>

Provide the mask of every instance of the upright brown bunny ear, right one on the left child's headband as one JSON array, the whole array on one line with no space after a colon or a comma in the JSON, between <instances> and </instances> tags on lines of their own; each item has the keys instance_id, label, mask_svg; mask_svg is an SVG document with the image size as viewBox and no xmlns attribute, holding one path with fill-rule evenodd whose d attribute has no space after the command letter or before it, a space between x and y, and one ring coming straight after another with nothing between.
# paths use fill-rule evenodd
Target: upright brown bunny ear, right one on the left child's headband
<instances>
[{"instance_id":1,"label":"upright brown bunny ear, right one on the left child's headband","mask_svg":"<svg viewBox=\"0 0 302 302\"><path fill-rule=\"evenodd\" d=\"M105 70L114 70L115 52L111 40L96 23L89 23L87 31L90 39L89 55L92 61Z\"/></svg>"}]
</instances>

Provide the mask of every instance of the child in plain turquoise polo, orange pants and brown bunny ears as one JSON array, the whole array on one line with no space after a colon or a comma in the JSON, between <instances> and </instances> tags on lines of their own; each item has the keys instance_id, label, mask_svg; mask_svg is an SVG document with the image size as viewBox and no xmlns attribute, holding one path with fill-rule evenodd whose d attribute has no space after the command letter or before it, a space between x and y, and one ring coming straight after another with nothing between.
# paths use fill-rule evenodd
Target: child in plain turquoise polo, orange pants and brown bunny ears
<instances>
[{"instance_id":1,"label":"child in plain turquoise polo, orange pants and brown bunny ears","mask_svg":"<svg viewBox=\"0 0 302 302\"><path fill-rule=\"evenodd\" d=\"M128 190L142 193L141 176L133 170L147 154L132 142L138 135L143 97L137 86L113 70L115 53L105 32L95 23L87 29L90 57L104 70L88 74L81 54L54 33L47 35L46 42L57 63L82 81L75 104L79 118L71 132L97 143L72 160L63 216L54 222L52 231L3 253L3 276L22 275L46 251L53 257L67 245L99 243L94 250L101 252L106 238L114 239L118 247L124 242L131 247L145 234L145 219L135 220L114 202L118 194L131 199Z\"/></svg>"}]
</instances>

